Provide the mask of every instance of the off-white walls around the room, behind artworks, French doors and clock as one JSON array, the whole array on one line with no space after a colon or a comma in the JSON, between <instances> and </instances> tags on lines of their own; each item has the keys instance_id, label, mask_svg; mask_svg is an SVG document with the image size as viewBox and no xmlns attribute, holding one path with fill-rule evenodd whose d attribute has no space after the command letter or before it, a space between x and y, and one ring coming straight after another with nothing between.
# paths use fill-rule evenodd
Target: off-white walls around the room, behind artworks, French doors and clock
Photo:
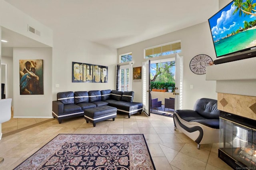
<instances>
[{"instance_id":1,"label":"off-white walls around the room, behind artworks, French doors and clock","mask_svg":"<svg viewBox=\"0 0 256 170\"><path fill-rule=\"evenodd\" d=\"M42 36L38 37L27 32L28 24L38 28ZM204 53L215 59L210 30L206 22L120 48L118 52L114 48L74 37L71 32L70 35L66 35L60 34L58 30L50 30L4 0L0 0L0 26L53 47L52 49L14 48L12 78L16 117L51 117L52 100L56 100L56 93L60 91L115 89L115 66L119 54L132 52L133 67L138 67L145 61L144 48L176 40L182 41L180 55L184 57L184 109L191 109L196 99L200 97L217 98L215 82L205 81L205 75L195 75L189 69L189 62L195 55ZM44 59L44 95L19 94L19 59ZM108 83L72 83L72 61L108 66ZM56 88L55 84L59 84L60 87ZM194 85L194 89L189 88L190 84ZM141 87L140 81L133 82L134 101L141 101Z\"/></svg>"}]
</instances>

